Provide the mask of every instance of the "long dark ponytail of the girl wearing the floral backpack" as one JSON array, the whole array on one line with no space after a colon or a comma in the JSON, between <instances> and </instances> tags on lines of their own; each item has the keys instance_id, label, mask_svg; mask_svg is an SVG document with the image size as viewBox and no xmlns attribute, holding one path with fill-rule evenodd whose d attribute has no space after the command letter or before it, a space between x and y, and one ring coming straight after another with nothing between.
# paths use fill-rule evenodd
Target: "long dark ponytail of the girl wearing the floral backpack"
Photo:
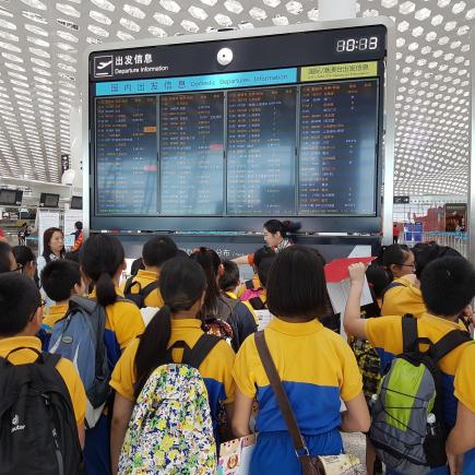
<instances>
[{"instance_id":1,"label":"long dark ponytail of the girl wearing the floral backpack","mask_svg":"<svg viewBox=\"0 0 475 475\"><path fill-rule=\"evenodd\" d=\"M140 339L135 354L135 399L139 397L152 371L166 363L165 356L170 335L171 311L165 305L155 313Z\"/></svg>"}]
</instances>

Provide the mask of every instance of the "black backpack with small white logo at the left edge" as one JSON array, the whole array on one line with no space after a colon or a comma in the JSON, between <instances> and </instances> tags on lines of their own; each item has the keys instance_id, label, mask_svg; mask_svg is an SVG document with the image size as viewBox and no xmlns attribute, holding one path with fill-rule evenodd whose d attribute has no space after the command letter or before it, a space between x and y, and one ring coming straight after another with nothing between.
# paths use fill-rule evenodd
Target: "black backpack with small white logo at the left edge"
<instances>
[{"instance_id":1,"label":"black backpack with small white logo at the left edge","mask_svg":"<svg viewBox=\"0 0 475 475\"><path fill-rule=\"evenodd\" d=\"M26 348L16 348L13 352ZM31 364L0 358L0 474L76 475L82 450L59 355L37 353Z\"/></svg>"}]
</instances>

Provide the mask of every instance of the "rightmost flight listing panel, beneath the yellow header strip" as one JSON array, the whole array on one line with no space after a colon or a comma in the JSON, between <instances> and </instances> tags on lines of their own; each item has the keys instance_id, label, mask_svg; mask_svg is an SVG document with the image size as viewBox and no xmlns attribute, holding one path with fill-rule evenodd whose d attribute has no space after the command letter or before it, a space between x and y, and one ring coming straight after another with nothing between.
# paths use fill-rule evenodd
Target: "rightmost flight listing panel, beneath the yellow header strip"
<instances>
[{"instance_id":1,"label":"rightmost flight listing panel, beneath the yellow header strip","mask_svg":"<svg viewBox=\"0 0 475 475\"><path fill-rule=\"evenodd\" d=\"M375 214L376 80L300 88L298 214Z\"/></svg>"}]
</instances>

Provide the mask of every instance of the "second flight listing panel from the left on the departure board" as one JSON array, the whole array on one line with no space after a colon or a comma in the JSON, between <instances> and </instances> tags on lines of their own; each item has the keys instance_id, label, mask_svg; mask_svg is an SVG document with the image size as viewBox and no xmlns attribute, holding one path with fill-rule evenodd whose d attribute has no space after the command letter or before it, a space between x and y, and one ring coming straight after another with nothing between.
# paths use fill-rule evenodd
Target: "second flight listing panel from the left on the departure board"
<instances>
[{"instance_id":1,"label":"second flight listing panel from the left on the departure board","mask_svg":"<svg viewBox=\"0 0 475 475\"><path fill-rule=\"evenodd\" d=\"M159 99L161 214L223 213L224 94Z\"/></svg>"}]
</instances>

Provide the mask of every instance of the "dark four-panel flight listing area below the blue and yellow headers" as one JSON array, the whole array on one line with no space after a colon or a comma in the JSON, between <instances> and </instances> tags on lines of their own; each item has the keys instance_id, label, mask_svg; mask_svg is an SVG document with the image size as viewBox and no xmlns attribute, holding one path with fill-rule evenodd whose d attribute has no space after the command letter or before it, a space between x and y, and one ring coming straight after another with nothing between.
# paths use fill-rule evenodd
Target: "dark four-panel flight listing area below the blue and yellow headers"
<instances>
[{"instance_id":1,"label":"dark four-panel flight listing area below the blue and yellow headers","mask_svg":"<svg viewBox=\"0 0 475 475\"><path fill-rule=\"evenodd\" d=\"M375 214L378 80L98 98L96 114L99 214Z\"/></svg>"}]
</instances>

